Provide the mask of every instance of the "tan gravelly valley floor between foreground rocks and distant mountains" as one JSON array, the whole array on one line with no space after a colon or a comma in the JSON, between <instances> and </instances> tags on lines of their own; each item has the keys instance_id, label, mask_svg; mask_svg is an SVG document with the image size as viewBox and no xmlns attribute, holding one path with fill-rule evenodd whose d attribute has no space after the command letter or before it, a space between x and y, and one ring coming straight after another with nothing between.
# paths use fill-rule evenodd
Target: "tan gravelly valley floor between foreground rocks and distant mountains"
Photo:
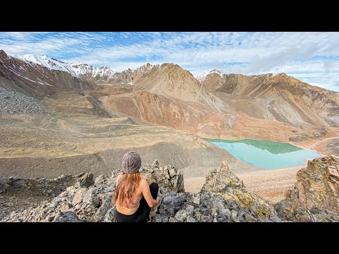
<instances>
[{"instance_id":1,"label":"tan gravelly valley floor between foreground rocks and distant mountains","mask_svg":"<svg viewBox=\"0 0 339 254\"><path fill-rule=\"evenodd\" d=\"M94 111L85 97L73 94L69 97L61 93L44 98L52 111L49 114L0 115L0 176L52 179L83 171L110 176L113 169L121 167L124 152L136 150L143 163L159 159L160 165L171 164L181 169L184 188L190 192L200 191L208 171L226 160L251 193L278 202L292 188L297 171L302 168L263 170L232 157L199 135L141 123L122 114L98 117L95 114L100 107ZM251 130L252 126L245 127ZM285 135L281 128L274 132ZM300 132L295 140L301 141L292 144L322 155L339 155L339 128L331 128L326 135L320 133L316 138L314 131ZM1 202L4 201L0 198Z\"/></svg>"}]
</instances>

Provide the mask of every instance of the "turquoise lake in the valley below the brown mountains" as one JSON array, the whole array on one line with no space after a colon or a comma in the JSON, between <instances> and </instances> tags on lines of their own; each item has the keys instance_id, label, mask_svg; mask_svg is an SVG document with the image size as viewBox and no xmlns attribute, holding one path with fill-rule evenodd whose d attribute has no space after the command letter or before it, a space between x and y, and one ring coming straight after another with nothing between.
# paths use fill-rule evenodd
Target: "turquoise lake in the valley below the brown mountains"
<instances>
[{"instance_id":1,"label":"turquoise lake in the valley below the brown mountains","mask_svg":"<svg viewBox=\"0 0 339 254\"><path fill-rule=\"evenodd\" d=\"M222 140L206 138L234 157L263 169L278 169L302 165L305 159L319 157L317 152L305 150L288 143L267 140Z\"/></svg>"}]
</instances>

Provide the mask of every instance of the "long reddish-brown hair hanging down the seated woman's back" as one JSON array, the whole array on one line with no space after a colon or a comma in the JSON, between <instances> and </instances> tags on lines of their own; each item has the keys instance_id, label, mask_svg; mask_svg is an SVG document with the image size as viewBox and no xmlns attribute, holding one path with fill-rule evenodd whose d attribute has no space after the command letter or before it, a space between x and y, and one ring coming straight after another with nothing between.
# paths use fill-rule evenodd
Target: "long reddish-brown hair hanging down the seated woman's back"
<instances>
[{"instance_id":1,"label":"long reddish-brown hair hanging down the seated woman's back","mask_svg":"<svg viewBox=\"0 0 339 254\"><path fill-rule=\"evenodd\" d=\"M113 203L117 204L118 200L119 204L124 205L124 207L129 207L129 202L136 192L140 181L141 174L139 172L134 174L125 174L122 172L114 191Z\"/></svg>"}]
</instances>

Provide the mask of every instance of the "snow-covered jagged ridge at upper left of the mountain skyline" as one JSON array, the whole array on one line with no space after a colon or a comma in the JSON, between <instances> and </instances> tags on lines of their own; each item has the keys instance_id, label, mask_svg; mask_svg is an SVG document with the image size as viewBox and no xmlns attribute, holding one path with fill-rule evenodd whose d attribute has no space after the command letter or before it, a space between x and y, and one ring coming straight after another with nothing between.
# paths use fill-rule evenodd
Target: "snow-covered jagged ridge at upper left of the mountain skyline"
<instances>
[{"instance_id":1,"label":"snow-covered jagged ridge at upper left of the mountain skyline","mask_svg":"<svg viewBox=\"0 0 339 254\"><path fill-rule=\"evenodd\" d=\"M108 80L114 78L115 74L115 72L112 71L109 67L98 68L90 66L86 63L65 63L46 55L37 56L35 54L25 54L22 59L25 61L40 64L52 70L66 71L76 77L85 76L86 78L88 78L89 76L91 76L96 79Z\"/></svg>"}]
</instances>

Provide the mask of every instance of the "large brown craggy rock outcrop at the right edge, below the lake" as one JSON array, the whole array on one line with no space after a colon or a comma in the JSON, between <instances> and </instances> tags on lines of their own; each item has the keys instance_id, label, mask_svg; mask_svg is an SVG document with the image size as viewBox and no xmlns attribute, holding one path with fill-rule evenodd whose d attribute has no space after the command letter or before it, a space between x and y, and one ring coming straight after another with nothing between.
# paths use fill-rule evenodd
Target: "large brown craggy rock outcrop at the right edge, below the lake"
<instances>
[{"instance_id":1,"label":"large brown craggy rock outcrop at the right edge, below the lake","mask_svg":"<svg viewBox=\"0 0 339 254\"><path fill-rule=\"evenodd\" d=\"M298 222L339 221L339 160L328 155L308 162L297 173L295 188L278 202L281 217Z\"/></svg>"}]
</instances>

